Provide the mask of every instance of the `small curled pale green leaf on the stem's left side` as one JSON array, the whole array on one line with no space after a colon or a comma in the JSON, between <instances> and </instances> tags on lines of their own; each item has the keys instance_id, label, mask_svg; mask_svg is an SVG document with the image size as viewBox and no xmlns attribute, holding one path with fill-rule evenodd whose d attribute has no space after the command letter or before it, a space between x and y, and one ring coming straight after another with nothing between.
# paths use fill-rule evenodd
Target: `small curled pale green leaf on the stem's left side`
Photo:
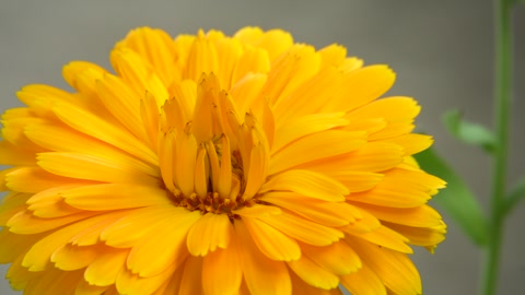
<instances>
[{"instance_id":1,"label":"small curled pale green leaf on the stem's left side","mask_svg":"<svg viewBox=\"0 0 525 295\"><path fill-rule=\"evenodd\" d=\"M459 141L472 144L492 153L497 146L495 137L481 125L463 120L458 109L452 109L443 115L443 121L448 131Z\"/></svg>"}]
</instances>

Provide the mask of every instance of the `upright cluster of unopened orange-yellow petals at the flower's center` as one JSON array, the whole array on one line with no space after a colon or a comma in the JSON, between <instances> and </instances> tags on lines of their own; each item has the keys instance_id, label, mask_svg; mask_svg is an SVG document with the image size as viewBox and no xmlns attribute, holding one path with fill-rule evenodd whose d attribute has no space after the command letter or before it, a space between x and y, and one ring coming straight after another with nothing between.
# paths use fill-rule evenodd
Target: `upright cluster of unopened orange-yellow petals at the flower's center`
<instances>
[{"instance_id":1,"label":"upright cluster of unopened orange-yellow petals at the flower's center","mask_svg":"<svg viewBox=\"0 0 525 295\"><path fill-rule=\"evenodd\" d=\"M253 110L237 114L213 74L203 75L197 87L184 127L175 117L175 99L161 109L161 175L176 205L233 219L235 209L256 202L268 169L268 142Z\"/></svg>"}]
</instances>

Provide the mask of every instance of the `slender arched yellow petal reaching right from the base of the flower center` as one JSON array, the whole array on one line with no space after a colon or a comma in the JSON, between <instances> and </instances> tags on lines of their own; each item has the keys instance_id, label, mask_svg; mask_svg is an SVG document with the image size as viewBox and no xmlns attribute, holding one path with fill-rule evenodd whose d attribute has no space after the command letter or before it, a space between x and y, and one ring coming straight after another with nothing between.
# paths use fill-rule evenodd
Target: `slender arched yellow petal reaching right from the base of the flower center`
<instances>
[{"instance_id":1,"label":"slender arched yellow petal reaching right from the base of the flower center","mask_svg":"<svg viewBox=\"0 0 525 295\"><path fill-rule=\"evenodd\" d=\"M273 176L262 185L259 193L282 190L334 202L343 201L345 194L350 192L340 182L323 174L295 169Z\"/></svg>"}]
</instances>

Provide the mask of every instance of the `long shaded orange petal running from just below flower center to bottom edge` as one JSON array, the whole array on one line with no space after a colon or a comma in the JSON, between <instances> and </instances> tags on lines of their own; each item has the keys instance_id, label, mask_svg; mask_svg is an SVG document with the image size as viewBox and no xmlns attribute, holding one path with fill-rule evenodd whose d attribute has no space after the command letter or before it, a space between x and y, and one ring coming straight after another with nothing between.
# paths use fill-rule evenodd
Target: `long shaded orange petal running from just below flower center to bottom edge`
<instances>
[{"instance_id":1,"label":"long shaded orange petal running from just below flower center to bottom edge","mask_svg":"<svg viewBox=\"0 0 525 295\"><path fill-rule=\"evenodd\" d=\"M284 262L262 255L242 221L234 222L235 237L243 250L238 251L246 285L254 295L290 294L292 284Z\"/></svg>"}]
</instances>

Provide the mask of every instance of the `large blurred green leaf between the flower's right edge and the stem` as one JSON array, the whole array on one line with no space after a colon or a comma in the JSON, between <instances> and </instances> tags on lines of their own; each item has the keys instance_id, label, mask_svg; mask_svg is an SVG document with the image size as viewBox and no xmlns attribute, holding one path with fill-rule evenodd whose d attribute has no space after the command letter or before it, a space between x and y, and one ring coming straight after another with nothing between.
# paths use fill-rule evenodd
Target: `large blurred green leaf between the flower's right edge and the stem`
<instances>
[{"instance_id":1,"label":"large blurred green leaf between the flower's right edge and the stem","mask_svg":"<svg viewBox=\"0 0 525 295\"><path fill-rule=\"evenodd\" d=\"M487 220L478 201L463 179L432 149L415 155L425 172L444 179L446 189L433 198L476 245L487 241Z\"/></svg>"}]
</instances>

